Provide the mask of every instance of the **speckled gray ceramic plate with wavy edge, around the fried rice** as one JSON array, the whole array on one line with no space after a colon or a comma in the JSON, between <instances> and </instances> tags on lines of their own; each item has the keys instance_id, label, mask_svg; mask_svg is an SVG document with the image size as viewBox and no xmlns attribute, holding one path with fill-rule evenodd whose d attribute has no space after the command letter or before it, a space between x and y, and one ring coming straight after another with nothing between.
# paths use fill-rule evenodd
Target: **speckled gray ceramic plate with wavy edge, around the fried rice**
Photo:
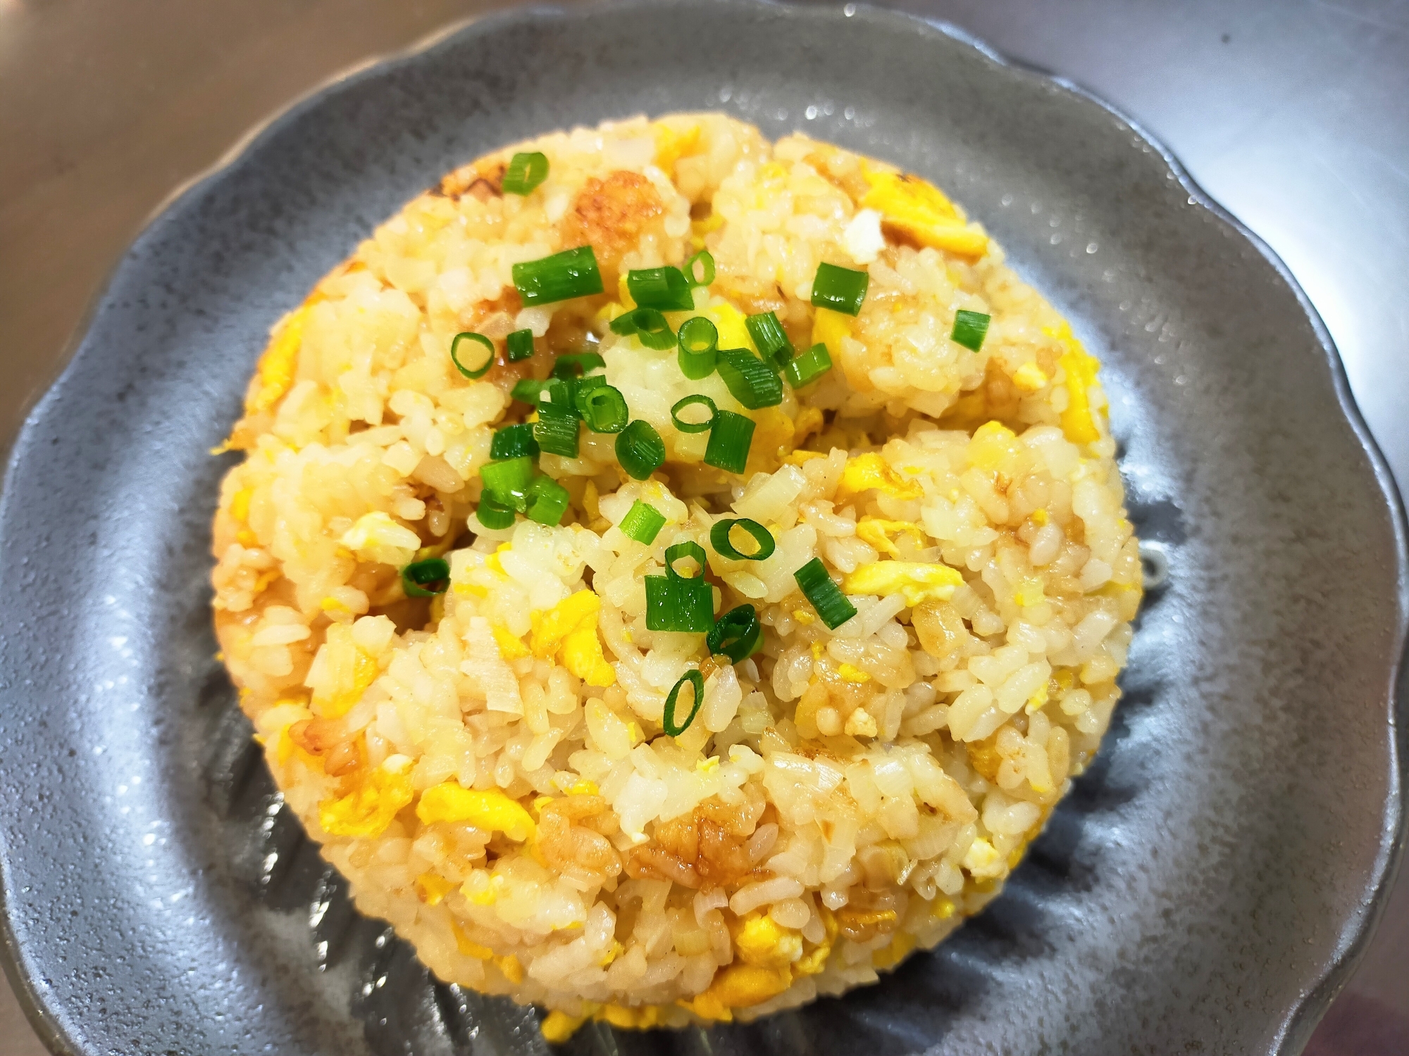
<instances>
[{"instance_id":1,"label":"speckled gray ceramic plate with wavy edge, around the fried rice","mask_svg":"<svg viewBox=\"0 0 1409 1056\"><path fill-rule=\"evenodd\" d=\"M137 241L0 505L11 976L79 1053L541 1052L433 984L280 810L214 662L209 521L269 324L454 165L721 108L950 189L1107 365L1168 553L1103 753L1003 897L881 986L575 1052L1295 1052L1399 831L1406 586L1326 331L1148 137L944 27L750 3L519 11L318 93ZM1402 698L1402 694L1399 694Z\"/></svg>"}]
</instances>

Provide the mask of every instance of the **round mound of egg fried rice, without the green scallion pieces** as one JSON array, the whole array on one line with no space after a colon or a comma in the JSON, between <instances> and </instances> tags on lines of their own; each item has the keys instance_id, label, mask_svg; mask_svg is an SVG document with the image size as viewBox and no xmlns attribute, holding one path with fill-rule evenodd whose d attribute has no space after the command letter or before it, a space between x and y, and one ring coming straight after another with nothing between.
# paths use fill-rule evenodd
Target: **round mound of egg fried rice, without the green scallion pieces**
<instances>
[{"instance_id":1,"label":"round mound of egg fried rice, without the green scallion pieces","mask_svg":"<svg viewBox=\"0 0 1409 1056\"><path fill-rule=\"evenodd\" d=\"M520 149L551 163L527 196L500 189ZM914 221L914 196L948 220ZM513 263L588 244L603 294L523 307ZM700 248L717 273L692 314L720 348L772 310L834 367L748 411L607 328L628 269ZM820 262L869 273L858 317L812 306ZM958 310L992 317L981 351L950 339ZM457 372L455 334L520 328L530 359ZM633 480L583 431L578 458L540 458L561 525L485 528L492 432L533 410L510 389L588 348L666 465ZM757 422L743 474L674 428L699 391ZM362 912L440 979L554 1010L552 1041L748 1019L934 946L998 894L1120 696L1141 570L1096 362L940 191L802 135L634 118L451 173L279 321L227 446L216 628L285 801ZM616 527L637 500L666 518L651 545ZM724 515L774 555L720 555ZM645 627L644 576L686 539L716 614L758 610L741 663ZM406 597L427 555L449 589ZM834 631L793 579L813 558L871 584ZM916 572L941 565L961 582ZM696 667L703 705L668 736Z\"/></svg>"}]
</instances>

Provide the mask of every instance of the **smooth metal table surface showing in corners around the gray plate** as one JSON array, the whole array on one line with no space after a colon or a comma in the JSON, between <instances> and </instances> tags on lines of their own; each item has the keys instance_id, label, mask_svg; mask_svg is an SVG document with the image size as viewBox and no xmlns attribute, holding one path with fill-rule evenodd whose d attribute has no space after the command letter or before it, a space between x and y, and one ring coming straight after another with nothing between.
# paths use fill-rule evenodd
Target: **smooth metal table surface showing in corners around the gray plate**
<instances>
[{"instance_id":1,"label":"smooth metal table surface showing in corners around the gray plate","mask_svg":"<svg viewBox=\"0 0 1409 1056\"><path fill-rule=\"evenodd\" d=\"M1089 87L1288 263L1409 491L1409 0L898 0ZM0 0L0 451L145 218L480 0ZM1409 1053L1409 873L1309 1053ZM39 1042L0 984L0 1056Z\"/></svg>"}]
</instances>

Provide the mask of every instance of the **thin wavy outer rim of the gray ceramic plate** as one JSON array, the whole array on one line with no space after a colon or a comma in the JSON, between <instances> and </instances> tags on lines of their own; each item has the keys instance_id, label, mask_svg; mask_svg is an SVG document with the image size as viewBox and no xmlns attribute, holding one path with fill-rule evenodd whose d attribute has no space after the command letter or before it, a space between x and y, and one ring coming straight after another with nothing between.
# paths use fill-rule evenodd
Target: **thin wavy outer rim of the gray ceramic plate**
<instances>
[{"instance_id":1,"label":"thin wavy outer rim of the gray ceramic plate","mask_svg":"<svg viewBox=\"0 0 1409 1056\"><path fill-rule=\"evenodd\" d=\"M259 153L263 144L272 139L285 125L299 120L304 111L311 110L324 97L338 92L344 86L351 86L365 77L407 65L421 55L462 35L492 35L523 23L538 20L586 20L599 13L631 11L641 8L754 8L786 14L788 17L803 18L854 18L862 15L865 20L893 27L924 27L972 48L983 58L999 68L1013 70L1043 84L1057 89L1057 92L1072 97L1079 104L1095 106L1105 114L1124 124L1127 130L1147 145L1164 163L1169 175L1188 193L1189 204L1202 208L1216 222L1224 225L1233 234L1250 244L1257 253L1272 268L1277 277L1292 291L1299 308L1312 325L1316 344L1326 359L1330 370L1330 383L1336 403L1341 415L1350 425L1355 441L1370 462L1371 473L1379 487L1381 498L1388 510L1391 532L1395 546L1395 594L1398 608L1398 627L1394 628L1395 641L1391 642L1391 652L1396 658L1388 672L1391 687L1388 705L1388 748L1389 748L1389 788L1385 797L1385 808L1381 824L1381 841L1374 865L1374 884L1358 903L1358 912L1347 918L1340 926L1341 942L1332 953L1330 959L1319 966L1319 976L1313 979L1302 991L1301 998L1288 1007L1279 1029L1272 1039L1275 1056L1292 1056L1301 1052L1310 1038L1316 1024L1324 1015L1334 997L1350 980L1354 967L1364 956L1365 949L1375 934L1377 925L1384 914L1389 890L1394 887L1403 857L1406 835L1409 835L1409 811L1406 811L1405 788L1409 784L1409 514L1406 514L1405 498L1389 470L1389 465L1379 449L1374 434L1365 424L1355 397L1350 387L1344 360L1340 356L1336 342L1330 335L1316 306L1308 297L1302 284L1296 280L1288 265L1258 234L1248 228L1233 213L1224 208L1212 194L1209 194L1188 172L1178 159L1151 130L1141 121L1127 114L1120 107L1103 99L1096 92L1085 87L1078 80L1061 73L1055 73L1038 63L1027 62L1002 52L976 34L944 18L929 17L916 11L882 7L874 3L845 3L834 0L826 4L803 3L802 0L588 0L571 6L551 3L511 4L496 10L471 14L451 20L435 30L423 34L417 39L402 48L368 55L335 73L324 77L318 83L299 93L287 103L272 110L268 115L254 122L242 132L214 162L197 170L192 176L178 183L168 194L148 213L123 252L107 269L101 283L89 297L73 329L61 348L58 362L62 365L54 377L42 387L25 408L20 427L10 438L0 438L0 510L6 505L8 493L6 482L15 465L20 462L24 439L34 428L35 420L49 400L56 398L59 384L68 379L73 369L73 358L92 332L99 308L107 301L118 273L127 266L132 251L142 242L151 231L168 215L175 214L185 203L193 200L200 191L214 186L234 168L252 161ZM1398 649L1395 649L1395 642ZM0 849L3 849L3 834L0 834ZM0 860L0 873L8 872L7 863ZM24 959L20 942L11 925L10 907L6 898L7 884L0 881L0 967L4 969L6 979L15 995L15 1000L25 1014L31 1028L39 1041L58 1056L87 1056L79 1049L68 1035L55 1015L39 995L34 981L24 970Z\"/></svg>"}]
</instances>

